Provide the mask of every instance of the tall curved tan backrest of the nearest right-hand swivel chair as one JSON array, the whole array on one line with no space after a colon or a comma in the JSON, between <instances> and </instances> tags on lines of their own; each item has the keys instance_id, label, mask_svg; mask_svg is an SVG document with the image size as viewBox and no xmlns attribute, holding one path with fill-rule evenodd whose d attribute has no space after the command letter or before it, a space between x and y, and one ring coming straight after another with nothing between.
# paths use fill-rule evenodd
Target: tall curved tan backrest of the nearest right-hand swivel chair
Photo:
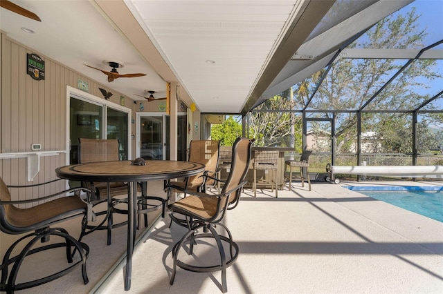
<instances>
[{"instance_id":1,"label":"tall curved tan backrest of the nearest right-hand swivel chair","mask_svg":"<svg viewBox=\"0 0 443 294\"><path fill-rule=\"evenodd\" d=\"M229 192L239 184L241 184L246 178L248 173L249 164L251 162L251 145L254 139L237 138L233 145L233 156L231 160L230 173L226 182L221 190L221 194ZM242 189L238 189L235 193L231 193L228 197L228 205L237 205Z\"/></svg>"}]
</instances>

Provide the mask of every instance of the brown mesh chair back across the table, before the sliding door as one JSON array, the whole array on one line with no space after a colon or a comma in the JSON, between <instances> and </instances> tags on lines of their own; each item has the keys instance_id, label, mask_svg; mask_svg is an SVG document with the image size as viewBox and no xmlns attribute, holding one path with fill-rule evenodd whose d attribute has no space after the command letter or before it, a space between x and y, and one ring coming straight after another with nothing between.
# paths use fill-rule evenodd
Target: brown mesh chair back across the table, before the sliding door
<instances>
[{"instance_id":1,"label":"brown mesh chair back across the table, before the sliding door","mask_svg":"<svg viewBox=\"0 0 443 294\"><path fill-rule=\"evenodd\" d=\"M118 139L78 138L78 163L119 160L118 145Z\"/></svg>"}]
</instances>

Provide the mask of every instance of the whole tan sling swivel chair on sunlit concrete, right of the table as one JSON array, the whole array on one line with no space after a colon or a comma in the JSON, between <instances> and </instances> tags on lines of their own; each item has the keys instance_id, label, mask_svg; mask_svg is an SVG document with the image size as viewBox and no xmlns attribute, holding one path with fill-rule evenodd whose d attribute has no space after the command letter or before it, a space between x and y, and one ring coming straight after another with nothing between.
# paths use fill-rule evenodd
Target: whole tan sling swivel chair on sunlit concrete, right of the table
<instances>
[{"instance_id":1,"label":"whole tan sling swivel chair on sunlit concrete, right of the table","mask_svg":"<svg viewBox=\"0 0 443 294\"><path fill-rule=\"evenodd\" d=\"M197 273L208 273L221 271L221 291L228 291L226 282L226 268L232 266L238 257L239 248L233 241L233 237L228 228L221 224L221 220L227 210L235 208L239 202L242 193L242 187L246 184L246 173L248 172L249 162L251 161L251 144L253 140L238 138L233 145L232 167L226 182L218 195L208 195L206 193L191 193L188 197L180 199L170 204L170 210L186 217L188 233L183 235L181 240L172 248L172 274L170 284L174 284L177 266L186 271ZM215 179L215 178L213 178ZM200 206L194 206L193 203L199 203ZM208 204L208 205L206 205ZM211 215L213 213L213 215ZM220 235L215 230L215 226L220 226L226 231L226 235ZM199 230L203 232L199 232ZM220 263L210 266L197 266L188 264L179 260L178 255L181 248L188 244L188 255L193 254L194 246L199 245L198 239L215 239L219 251ZM202 242L201 246L208 244ZM224 244L228 244L228 252L225 252Z\"/></svg>"}]
</instances>

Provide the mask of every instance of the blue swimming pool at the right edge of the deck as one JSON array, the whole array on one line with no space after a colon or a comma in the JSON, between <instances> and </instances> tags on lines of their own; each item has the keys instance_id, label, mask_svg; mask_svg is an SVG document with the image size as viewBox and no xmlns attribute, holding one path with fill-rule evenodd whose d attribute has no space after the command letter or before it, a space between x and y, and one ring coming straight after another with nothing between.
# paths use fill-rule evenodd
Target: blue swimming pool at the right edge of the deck
<instances>
[{"instance_id":1,"label":"blue swimming pool at the right edge of the deck","mask_svg":"<svg viewBox=\"0 0 443 294\"><path fill-rule=\"evenodd\" d=\"M443 187L350 186L350 190L443 222Z\"/></svg>"}]
</instances>

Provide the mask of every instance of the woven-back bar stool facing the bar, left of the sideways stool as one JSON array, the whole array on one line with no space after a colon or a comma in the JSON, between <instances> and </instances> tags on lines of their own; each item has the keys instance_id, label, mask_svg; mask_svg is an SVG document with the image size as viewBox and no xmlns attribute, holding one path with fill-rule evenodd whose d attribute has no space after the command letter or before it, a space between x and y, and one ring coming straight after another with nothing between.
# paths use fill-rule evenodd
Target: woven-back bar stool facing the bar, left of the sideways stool
<instances>
[{"instance_id":1,"label":"woven-back bar stool facing the bar, left of the sideways stool","mask_svg":"<svg viewBox=\"0 0 443 294\"><path fill-rule=\"evenodd\" d=\"M276 174L277 174L276 170L278 170L278 151L255 150L253 170L254 170L254 182L253 182L254 197L257 196L257 184L264 184L264 185L271 184L271 192L273 191L275 186L275 198L277 198L278 187L276 179ZM262 181L257 181L257 170L270 170L271 182L268 182L266 180L266 171Z\"/></svg>"}]
</instances>

